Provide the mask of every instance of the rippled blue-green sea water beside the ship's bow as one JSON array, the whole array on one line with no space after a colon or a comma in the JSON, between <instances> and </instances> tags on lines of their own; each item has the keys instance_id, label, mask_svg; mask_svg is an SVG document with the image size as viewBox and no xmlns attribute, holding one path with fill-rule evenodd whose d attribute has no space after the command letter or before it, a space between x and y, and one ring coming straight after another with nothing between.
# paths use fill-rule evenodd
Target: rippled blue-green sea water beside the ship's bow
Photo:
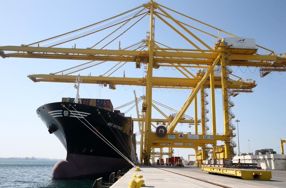
<instances>
[{"instance_id":1,"label":"rippled blue-green sea water beside the ship's bow","mask_svg":"<svg viewBox=\"0 0 286 188\"><path fill-rule=\"evenodd\" d=\"M100 178L52 179L56 163L56 160L0 159L0 187L90 188Z\"/></svg>"}]
</instances>

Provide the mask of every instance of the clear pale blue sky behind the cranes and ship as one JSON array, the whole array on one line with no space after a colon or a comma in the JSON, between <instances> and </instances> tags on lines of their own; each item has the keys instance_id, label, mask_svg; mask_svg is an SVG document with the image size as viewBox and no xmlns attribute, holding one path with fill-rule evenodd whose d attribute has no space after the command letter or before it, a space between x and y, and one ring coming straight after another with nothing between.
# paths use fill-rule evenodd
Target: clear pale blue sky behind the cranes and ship
<instances>
[{"instance_id":1,"label":"clear pale blue sky behind the cranes and ship","mask_svg":"<svg viewBox=\"0 0 286 188\"><path fill-rule=\"evenodd\" d=\"M29 44L41 39L56 36L111 16L130 10L145 1L1 1L0 45ZM282 53L286 50L285 39L285 1L158 1L181 13L199 19L237 36L255 38L256 43L268 49ZM202 26L192 20L172 14L176 19L217 35L217 30ZM132 29L106 47L118 49L146 38L149 30L149 17L146 16ZM155 20L155 40L174 48L193 49L158 18ZM182 31L182 30L180 30ZM111 30L96 33L82 40L62 44L59 47L77 48L90 47L105 37ZM182 31L186 36L187 33ZM196 33L197 34L197 33ZM199 35L200 34L200 35ZM202 33L197 34L208 45L213 45L213 38ZM220 33L221 38L229 37ZM188 36L189 37L189 36ZM263 53L259 50L259 53ZM34 83L28 74L49 74L83 63L80 60L25 59L0 58L1 75L1 122L0 122L0 157L49 157L65 158L66 150L55 137L50 135L46 126L37 117L35 110L49 102L60 101L62 97L74 97L76 90L70 83ZM81 75L97 76L105 73L117 62L106 62L80 72ZM232 98L235 106L232 112L239 119L240 151L248 152L264 148L273 148L281 153L279 137L285 139L285 102L284 94L286 74L277 72L260 78L256 67L231 67L233 73L243 79L251 78L258 84L254 92L242 93ZM130 62L121 67L112 76L143 77L143 68L135 69L135 63ZM191 69L189 69L191 71ZM196 70L192 70L195 74ZM177 70L162 67L153 70L154 76L184 77ZM78 74L78 73L74 73ZM68 88L68 89L66 89ZM65 90L66 89L66 90ZM132 101L133 90L138 96L143 95L142 87L117 86L116 90L107 87L84 84L81 87L82 98L111 99L114 107ZM63 93L61 93L65 90ZM153 99L174 109L180 109L188 90L153 89ZM208 90L208 93L209 90ZM210 99L208 98L208 101ZM216 89L216 123L217 132L223 132L221 89ZM142 104L140 104L141 106ZM122 112L129 107L122 109ZM210 109L210 104L208 105ZM162 109L166 114L169 110ZM162 116L153 109L153 118ZM135 108L127 115L136 117ZM193 104L186 112L193 117ZM198 114L200 116L200 114ZM211 127L211 113L208 114ZM233 121L234 122L234 121ZM235 123L235 122L234 122ZM134 123L135 132L138 131ZM187 124L178 125L176 130L194 132L194 127ZM200 130L200 129L199 129ZM200 131L199 131L200 132ZM234 138L237 142L237 138ZM139 146L138 146L139 148ZM165 149L164 151L167 151ZM238 151L238 148L235 148ZM250 151L250 152L251 152ZM101 151L99 151L101 152ZM187 158L193 154L193 149L175 149L174 155Z\"/></svg>"}]
</instances>

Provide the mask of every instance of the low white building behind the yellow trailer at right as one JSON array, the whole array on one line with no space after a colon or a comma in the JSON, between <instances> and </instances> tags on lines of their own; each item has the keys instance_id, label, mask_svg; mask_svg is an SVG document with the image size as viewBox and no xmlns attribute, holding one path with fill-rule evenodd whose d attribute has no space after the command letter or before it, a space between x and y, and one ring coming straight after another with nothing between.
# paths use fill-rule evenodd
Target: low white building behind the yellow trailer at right
<instances>
[{"instance_id":1,"label":"low white building behind the yellow trailer at right","mask_svg":"<svg viewBox=\"0 0 286 188\"><path fill-rule=\"evenodd\" d=\"M236 156L233 163L256 163L262 169L286 170L286 155L284 154L264 154L264 155L244 155Z\"/></svg>"}]
</instances>

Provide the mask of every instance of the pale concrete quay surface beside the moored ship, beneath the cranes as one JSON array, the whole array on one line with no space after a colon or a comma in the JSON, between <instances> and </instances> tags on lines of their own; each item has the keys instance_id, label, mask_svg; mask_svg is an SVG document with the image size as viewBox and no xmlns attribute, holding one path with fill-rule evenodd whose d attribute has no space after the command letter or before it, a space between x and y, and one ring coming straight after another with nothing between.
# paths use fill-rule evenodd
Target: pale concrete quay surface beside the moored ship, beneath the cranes
<instances>
[{"instance_id":1,"label":"pale concrete quay surface beside the moored ship, beneath the cranes","mask_svg":"<svg viewBox=\"0 0 286 188\"><path fill-rule=\"evenodd\" d=\"M132 168L125 175L123 175L118 181L116 181L112 188L126 188L131 180L133 174L143 175L145 186L155 188L187 188L187 187L259 187L259 188L271 188L271 187L286 187L286 171L271 170L272 178L270 181L251 181L243 180L236 177L230 177L225 175L210 175L204 172L200 167L186 166L186 167L169 167L163 165L140 165L141 171L136 172L135 168ZM165 171L168 170L168 171ZM175 173L180 173L175 174ZM189 178L183 175L187 175L193 178L199 178L204 181ZM209 182L209 183L208 183ZM214 184L217 185L214 185Z\"/></svg>"}]
</instances>

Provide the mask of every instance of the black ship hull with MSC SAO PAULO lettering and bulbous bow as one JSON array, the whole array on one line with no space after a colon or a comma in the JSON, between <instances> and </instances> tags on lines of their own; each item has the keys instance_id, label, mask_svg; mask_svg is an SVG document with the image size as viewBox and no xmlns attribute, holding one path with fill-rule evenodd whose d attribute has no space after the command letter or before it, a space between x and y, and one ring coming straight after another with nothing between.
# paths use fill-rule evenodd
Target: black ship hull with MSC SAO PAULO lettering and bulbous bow
<instances>
[{"instance_id":1,"label":"black ship hull with MSC SAO PAULO lettering and bulbous bow","mask_svg":"<svg viewBox=\"0 0 286 188\"><path fill-rule=\"evenodd\" d=\"M130 166L102 137L136 164L131 122L116 113L85 104L57 102L39 107L37 115L67 151L66 160L55 164L52 178L77 178Z\"/></svg>"}]
</instances>

